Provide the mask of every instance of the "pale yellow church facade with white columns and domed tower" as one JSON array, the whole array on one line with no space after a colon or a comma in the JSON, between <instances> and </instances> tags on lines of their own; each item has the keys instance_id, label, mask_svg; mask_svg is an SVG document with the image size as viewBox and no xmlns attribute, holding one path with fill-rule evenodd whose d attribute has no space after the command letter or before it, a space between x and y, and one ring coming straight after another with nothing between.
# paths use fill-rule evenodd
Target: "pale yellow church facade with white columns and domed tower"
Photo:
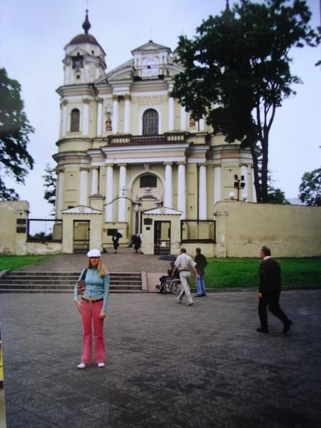
<instances>
[{"instance_id":1,"label":"pale yellow church facade with white columns and domed tower","mask_svg":"<svg viewBox=\"0 0 321 428\"><path fill-rule=\"evenodd\" d=\"M144 235L153 214L158 222L162 215L213 222L215 203L236 193L235 174L244 178L240 200L255 202L250 151L225 143L171 96L174 76L183 71L175 51L150 40L106 72L88 16L83 29L65 47L57 89L56 218L68 224L64 252L93 243L108 248L116 230L128 245L133 234Z\"/></svg>"}]
</instances>

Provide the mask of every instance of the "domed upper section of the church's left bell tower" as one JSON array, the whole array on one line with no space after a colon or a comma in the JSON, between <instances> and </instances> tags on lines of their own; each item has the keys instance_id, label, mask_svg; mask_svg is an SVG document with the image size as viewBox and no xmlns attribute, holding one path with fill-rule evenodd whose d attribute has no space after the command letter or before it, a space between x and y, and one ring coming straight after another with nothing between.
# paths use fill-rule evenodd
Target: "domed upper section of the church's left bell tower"
<instances>
[{"instance_id":1,"label":"domed upper section of the church's left bell tower","mask_svg":"<svg viewBox=\"0 0 321 428\"><path fill-rule=\"evenodd\" d=\"M65 46L63 58L64 85L91 83L103 75L106 70L105 52L98 41L88 33L91 23L83 22L83 34L73 37Z\"/></svg>"}]
</instances>

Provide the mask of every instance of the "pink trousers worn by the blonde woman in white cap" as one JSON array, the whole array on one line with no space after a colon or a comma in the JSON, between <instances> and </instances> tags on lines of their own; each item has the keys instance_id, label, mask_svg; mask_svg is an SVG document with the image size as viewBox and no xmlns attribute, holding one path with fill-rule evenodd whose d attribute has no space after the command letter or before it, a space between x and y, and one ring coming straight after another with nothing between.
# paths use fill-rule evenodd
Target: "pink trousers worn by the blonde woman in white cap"
<instances>
[{"instance_id":1,"label":"pink trousers worn by the blonde woman in white cap","mask_svg":"<svg viewBox=\"0 0 321 428\"><path fill-rule=\"evenodd\" d=\"M103 340L103 318L99 318L103 302L88 303L81 302L81 318L83 320L83 353L81 362L91 364L92 360L92 326L95 335L96 362L105 362L105 342Z\"/></svg>"}]
</instances>

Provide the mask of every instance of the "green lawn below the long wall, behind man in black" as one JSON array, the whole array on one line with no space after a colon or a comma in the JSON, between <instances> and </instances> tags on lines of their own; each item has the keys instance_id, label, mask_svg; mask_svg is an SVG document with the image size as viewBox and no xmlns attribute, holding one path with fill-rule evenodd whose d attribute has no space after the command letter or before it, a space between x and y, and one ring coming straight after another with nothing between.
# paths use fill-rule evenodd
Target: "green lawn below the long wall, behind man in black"
<instances>
[{"instance_id":1,"label":"green lawn below the long wall, behind man in black","mask_svg":"<svg viewBox=\"0 0 321 428\"><path fill-rule=\"evenodd\" d=\"M320 258L277 258L284 287L321 287ZM208 258L208 288L258 287L259 258ZM193 281L191 282L193 284Z\"/></svg>"}]
</instances>

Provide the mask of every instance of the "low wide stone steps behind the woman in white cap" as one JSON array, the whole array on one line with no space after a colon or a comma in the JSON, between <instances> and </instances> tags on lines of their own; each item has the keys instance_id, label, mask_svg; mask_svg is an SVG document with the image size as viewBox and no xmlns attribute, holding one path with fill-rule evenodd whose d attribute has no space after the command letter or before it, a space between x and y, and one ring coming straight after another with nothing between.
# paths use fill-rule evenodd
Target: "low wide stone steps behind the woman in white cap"
<instances>
[{"instance_id":1,"label":"low wide stone steps behind the woman in white cap","mask_svg":"<svg viewBox=\"0 0 321 428\"><path fill-rule=\"evenodd\" d=\"M0 293L73 292L80 272L9 271L0 279ZM110 292L142 292L141 272L109 273Z\"/></svg>"}]
</instances>

